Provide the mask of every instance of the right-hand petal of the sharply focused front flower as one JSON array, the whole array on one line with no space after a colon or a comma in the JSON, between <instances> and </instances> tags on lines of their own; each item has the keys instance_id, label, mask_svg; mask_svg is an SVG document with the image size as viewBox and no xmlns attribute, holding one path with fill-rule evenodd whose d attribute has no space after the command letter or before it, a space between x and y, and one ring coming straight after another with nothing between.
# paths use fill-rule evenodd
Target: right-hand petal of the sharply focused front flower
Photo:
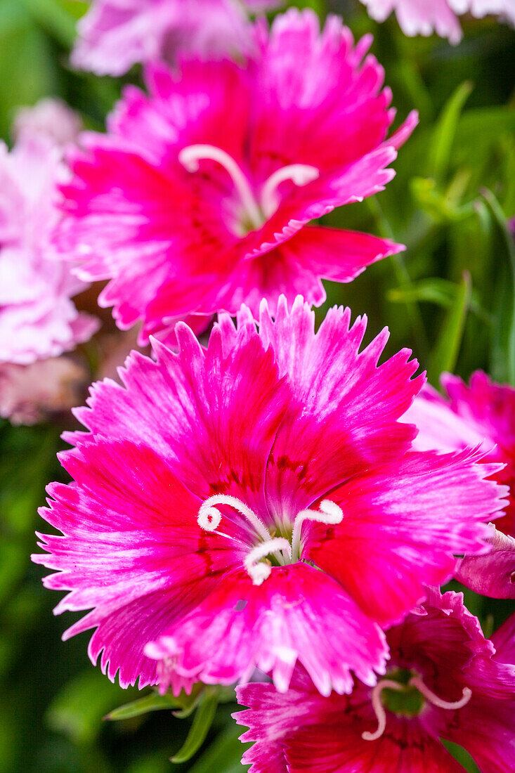
<instances>
[{"instance_id":1,"label":"right-hand petal of the sharply focused front flower","mask_svg":"<svg viewBox=\"0 0 515 773\"><path fill-rule=\"evenodd\" d=\"M485 481L496 465L471 451L412 452L333 492L343 521L312 526L302 557L346 588L367 615L391 625L452 576L453 554L486 552L482 523L506 488Z\"/></svg>"}]
</instances>

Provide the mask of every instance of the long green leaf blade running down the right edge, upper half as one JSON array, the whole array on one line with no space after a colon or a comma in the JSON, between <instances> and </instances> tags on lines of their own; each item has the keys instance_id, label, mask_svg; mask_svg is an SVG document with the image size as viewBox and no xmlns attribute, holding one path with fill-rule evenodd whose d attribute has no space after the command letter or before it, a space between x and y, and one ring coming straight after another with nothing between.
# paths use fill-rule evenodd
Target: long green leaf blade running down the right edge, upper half
<instances>
[{"instance_id":1,"label":"long green leaf blade running down the right edge, upper half","mask_svg":"<svg viewBox=\"0 0 515 773\"><path fill-rule=\"evenodd\" d=\"M515 243L496 197L491 191L483 190L483 198L496 226L493 236L499 267L492 342L493 376L515 384Z\"/></svg>"}]
</instances>

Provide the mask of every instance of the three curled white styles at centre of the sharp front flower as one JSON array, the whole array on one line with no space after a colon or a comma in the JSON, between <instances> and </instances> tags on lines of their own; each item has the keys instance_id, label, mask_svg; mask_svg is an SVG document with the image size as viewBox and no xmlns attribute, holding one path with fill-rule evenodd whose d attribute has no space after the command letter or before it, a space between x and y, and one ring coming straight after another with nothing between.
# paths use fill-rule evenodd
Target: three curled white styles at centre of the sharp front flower
<instances>
[{"instance_id":1,"label":"three curled white styles at centre of the sharp front flower","mask_svg":"<svg viewBox=\"0 0 515 773\"><path fill-rule=\"evenodd\" d=\"M229 540L233 540L234 537L218 531L218 526L222 521L222 513L217 505L228 505L237 510L253 526L255 536L261 540L247 553L244 560L245 570L247 570L254 585L261 585L267 577L270 577L271 561L268 560L269 556L273 557L279 566L295 564L301 559L302 524L306 520L326 523L329 526L336 525L343 519L343 511L341 507L336 505L336 502L322 499L319 510L306 509L297 513L293 522L292 543L290 544L285 537L273 536L261 518L240 499L235 496L215 494L206 499L200 506L197 523L201 529L225 536Z\"/></svg>"}]
</instances>

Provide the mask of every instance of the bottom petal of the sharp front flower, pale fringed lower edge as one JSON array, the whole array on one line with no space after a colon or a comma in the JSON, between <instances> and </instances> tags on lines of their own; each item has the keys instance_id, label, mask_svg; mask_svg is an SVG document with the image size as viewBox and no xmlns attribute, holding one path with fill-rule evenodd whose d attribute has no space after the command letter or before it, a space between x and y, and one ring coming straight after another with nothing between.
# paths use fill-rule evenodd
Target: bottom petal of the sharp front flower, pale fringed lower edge
<instances>
[{"instance_id":1,"label":"bottom petal of the sharp front flower, pale fringed lower edge","mask_svg":"<svg viewBox=\"0 0 515 773\"><path fill-rule=\"evenodd\" d=\"M387 657L380 628L331 577L304 564L272 568L259 586L243 572L226 575L145 652L206 683L246 680L258 668L271 672L282 692L298 660L324 695L350 692L350 669L375 683L374 670L384 673ZM168 679L164 665L162 686Z\"/></svg>"}]
</instances>

